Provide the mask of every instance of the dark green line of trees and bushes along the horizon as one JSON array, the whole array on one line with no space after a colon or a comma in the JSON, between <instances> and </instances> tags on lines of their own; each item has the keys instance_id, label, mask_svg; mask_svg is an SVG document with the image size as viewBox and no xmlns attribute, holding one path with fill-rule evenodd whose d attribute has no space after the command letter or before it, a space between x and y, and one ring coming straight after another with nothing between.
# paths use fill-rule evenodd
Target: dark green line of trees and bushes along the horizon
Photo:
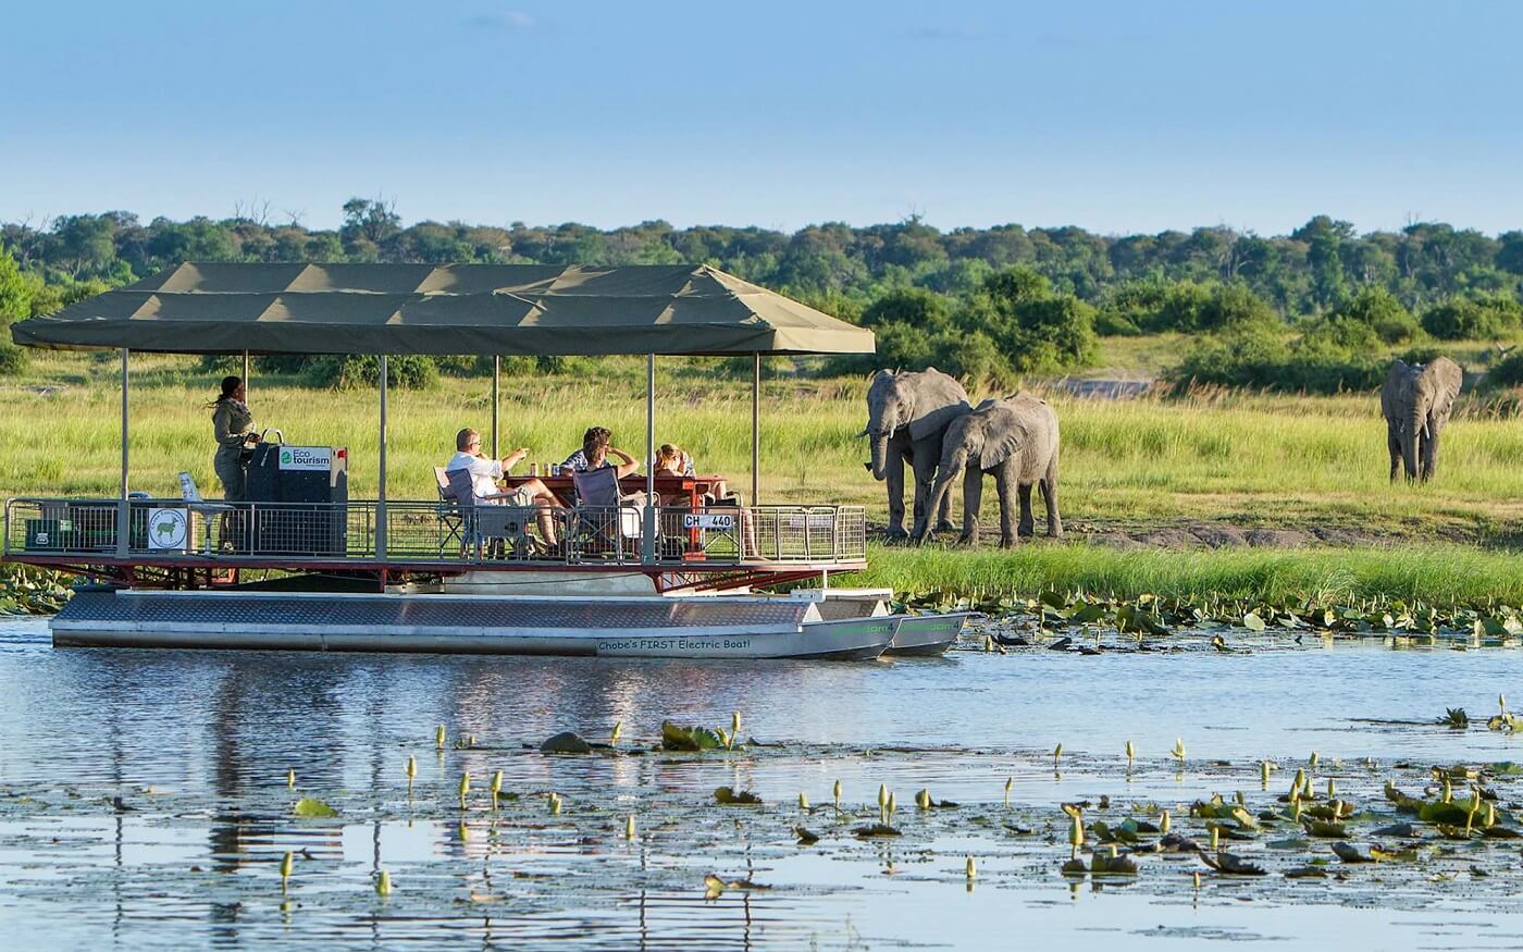
<instances>
[{"instance_id":1,"label":"dark green line of trees and bushes along the horizon","mask_svg":"<svg viewBox=\"0 0 1523 952\"><path fill-rule=\"evenodd\" d=\"M404 227L390 203L367 198L347 201L343 212L337 230L274 222L260 209L146 224L129 212L5 222L0 321L58 309L181 260L379 260L711 264L874 326L886 363L937 363L996 379L1083 366L1095 335L1179 331L1197 338L1179 373L1285 385L1272 370L1276 359L1317 356L1331 366L1375 341L1502 337L1523 324L1523 230L1488 236L1444 222L1359 233L1319 215L1272 238L1221 225L1115 236L1014 224L943 232L911 216L789 235L664 221L611 230L574 222ZM5 347L8 340L0 367L21 359ZM1223 363L1244 350L1267 363L1256 370ZM1366 370L1301 384L1363 385ZM1276 382L1266 384L1269 376Z\"/></svg>"}]
</instances>

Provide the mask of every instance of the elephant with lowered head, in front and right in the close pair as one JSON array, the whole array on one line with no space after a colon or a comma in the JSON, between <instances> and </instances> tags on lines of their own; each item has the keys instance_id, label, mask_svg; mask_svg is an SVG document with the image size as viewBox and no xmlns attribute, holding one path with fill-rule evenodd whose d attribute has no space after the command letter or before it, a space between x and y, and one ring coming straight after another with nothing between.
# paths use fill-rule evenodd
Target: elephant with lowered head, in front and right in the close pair
<instances>
[{"instance_id":1,"label":"elephant with lowered head, in front and right in the close pair","mask_svg":"<svg viewBox=\"0 0 1523 952\"><path fill-rule=\"evenodd\" d=\"M995 477L999 490L999 547L1016 544L1010 510L1020 500L1020 535L1033 535L1031 487L1042 487L1048 509L1048 535L1063 535L1057 513L1057 414L1046 401L1017 393L1002 401L984 401L972 413L952 420L941 442L941 463L931 492L935 509L947 486L967 468L963 480L963 535L959 544L978 541L978 509L984 494L984 474Z\"/></svg>"}]
</instances>

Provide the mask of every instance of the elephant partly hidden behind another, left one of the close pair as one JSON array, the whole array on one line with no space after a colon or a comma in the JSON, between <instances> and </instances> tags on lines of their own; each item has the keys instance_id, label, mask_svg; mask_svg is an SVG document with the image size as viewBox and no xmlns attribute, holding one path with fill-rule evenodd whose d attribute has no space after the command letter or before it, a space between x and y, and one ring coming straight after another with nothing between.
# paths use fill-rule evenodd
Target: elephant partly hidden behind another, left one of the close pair
<instances>
[{"instance_id":1,"label":"elephant partly hidden behind another, left one of the close pair","mask_svg":"<svg viewBox=\"0 0 1523 952\"><path fill-rule=\"evenodd\" d=\"M926 530L926 498L941 458L947 425L969 411L967 390L935 367L924 370L879 370L867 388L867 428L857 436L873 440L873 478L888 481L888 538L905 539L905 463L915 477L914 535ZM938 513L938 526L952 527L952 500Z\"/></svg>"}]
</instances>

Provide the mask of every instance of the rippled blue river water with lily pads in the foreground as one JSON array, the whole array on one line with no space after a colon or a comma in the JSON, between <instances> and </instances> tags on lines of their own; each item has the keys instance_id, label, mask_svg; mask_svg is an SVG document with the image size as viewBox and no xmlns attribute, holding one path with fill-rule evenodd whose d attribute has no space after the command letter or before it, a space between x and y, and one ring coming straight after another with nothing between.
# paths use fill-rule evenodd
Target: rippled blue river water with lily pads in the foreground
<instances>
[{"instance_id":1,"label":"rippled blue river water with lily pads in the foreground","mask_svg":"<svg viewBox=\"0 0 1523 952\"><path fill-rule=\"evenodd\" d=\"M1430 765L1523 760L1523 739L1430 724L1445 707L1483 720L1500 692L1523 699L1520 675L1517 650L1316 638L1235 653L731 664L55 650L46 621L8 620L0 935L12 938L0 944L1512 947L1523 905L1509 841L1505 855L1433 847L1403 870L1334 865L1346 877L1317 882L1285 879L1290 861L1273 850L1320 864L1325 845L1250 842L1240 848L1270 876L1148 858L1104 883L1058 873L1069 845L1057 804L1109 795L1132 815L1161 804L1183 818L1193 800L1249 791L1253 810L1272 809L1281 777L1317 751L1316 783L1336 777L1374 807L1387 778L1419 794ZM734 711L755 746L649 752L664 719L728 725ZM562 730L603 740L620 722L617 756L535 749ZM436 751L440 724L449 742ZM474 745L455 749L466 736ZM1263 759L1285 766L1270 792ZM512 798L493 810L496 769ZM836 780L842 810L821 809ZM765 804L719 807L720 784ZM859 839L851 829L879 819L879 784L905 836ZM959 806L915 810L918 789ZM292 815L300 797L338 816ZM819 842L798 845L798 826ZM387 897L373 890L381 870ZM708 896L710 873L768 888Z\"/></svg>"}]
</instances>

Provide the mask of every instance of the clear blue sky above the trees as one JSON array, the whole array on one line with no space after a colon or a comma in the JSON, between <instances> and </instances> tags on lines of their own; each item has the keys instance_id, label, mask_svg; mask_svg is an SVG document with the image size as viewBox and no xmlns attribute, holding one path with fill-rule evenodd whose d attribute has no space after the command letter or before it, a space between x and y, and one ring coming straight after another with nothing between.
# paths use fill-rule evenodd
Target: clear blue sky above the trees
<instances>
[{"instance_id":1,"label":"clear blue sky above the trees","mask_svg":"<svg viewBox=\"0 0 1523 952\"><path fill-rule=\"evenodd\" d=\"M1523 3L137 0L0 14L0 219L1523 227Z\"/></svg>"}]
</instances>

